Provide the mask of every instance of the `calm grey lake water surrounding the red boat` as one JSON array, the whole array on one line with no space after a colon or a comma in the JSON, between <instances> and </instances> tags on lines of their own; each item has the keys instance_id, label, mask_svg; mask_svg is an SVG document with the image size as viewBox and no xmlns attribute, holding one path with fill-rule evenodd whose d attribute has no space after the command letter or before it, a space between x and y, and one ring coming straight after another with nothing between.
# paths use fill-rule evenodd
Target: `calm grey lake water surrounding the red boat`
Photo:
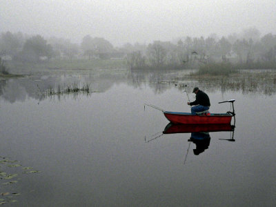
<instances>
[{"instance_id":1,"label":"calm grey lake water surrounding the red boat","mask_svg":"<svg viewBox=\"0 0 276 207\"><path fill-rule=\"evenodd\" d=\"M119 72L1 81L0 203L275 206L275 80L233 86L181 77ZM76 80L97 92L50 98L37 92L37 85ZM226 112L230 105L218 102L236 99L235 141L221 140L233 132L210 132L208 148L195 155L191 133L162 134L168 120L144 103L189 111L181 83L191 100L194 86L207 92L211 112Z\"/></svg>"}]
</instances>

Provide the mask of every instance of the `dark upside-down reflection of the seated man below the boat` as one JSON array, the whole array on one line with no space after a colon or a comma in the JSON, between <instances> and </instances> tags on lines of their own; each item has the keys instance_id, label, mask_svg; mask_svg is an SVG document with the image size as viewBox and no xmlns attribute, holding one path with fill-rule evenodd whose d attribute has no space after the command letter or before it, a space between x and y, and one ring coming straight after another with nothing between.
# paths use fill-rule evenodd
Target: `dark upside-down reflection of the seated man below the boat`
<instances>
[{"instance_id":1,"label":"dark upside-down reflection of the seated man below the boat","mask_svg":"<svg viewBox=\"0 0 276 207\"><path fill-rule=\"evenodd\" d=\"M193 151L195 155L199 155L201 152L208 149L210 145L209 132L192 132L188 141L193 141L193 143L195 143L196 148Z\"/></svg>"}]
</instances>

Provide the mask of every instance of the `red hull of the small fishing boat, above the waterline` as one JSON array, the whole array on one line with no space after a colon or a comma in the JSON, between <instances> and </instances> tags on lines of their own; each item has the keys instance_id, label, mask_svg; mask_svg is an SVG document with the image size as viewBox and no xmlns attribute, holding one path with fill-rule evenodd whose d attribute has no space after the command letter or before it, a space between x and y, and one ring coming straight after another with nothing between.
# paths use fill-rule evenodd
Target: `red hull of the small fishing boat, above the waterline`
<instances>
[{"instance_id":1,"label":"red hull of the small fishing boat, above the waterline","mask_svg":"<svg viewBox=\"0 0 276 207\"><path fill-rule=\"evenodd\" d=\"M164 112L168 121L173 124L230 124L233 115L210 114L210 115L192 115L185 112Z\"/></svg>"}]
</instances>

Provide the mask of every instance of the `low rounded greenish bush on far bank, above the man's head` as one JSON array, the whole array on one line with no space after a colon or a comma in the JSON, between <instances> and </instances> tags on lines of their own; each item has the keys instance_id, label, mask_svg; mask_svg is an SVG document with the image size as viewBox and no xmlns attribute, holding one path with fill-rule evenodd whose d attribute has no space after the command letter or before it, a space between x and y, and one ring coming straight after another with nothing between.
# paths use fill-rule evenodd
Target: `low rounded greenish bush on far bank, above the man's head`
<instances>
[{"instance_id":1,"label":"low rounded greenish bush on far bank, above the man's head","mask_svg":"<svg viewBox=\"0 0 276 207\"><path fill-rule=\"evenodd\" d=\"M207 63L201 66L194 75L230 75L237 72L234 66L228 62L222 63Z\"/></svg>"}]
</instances>

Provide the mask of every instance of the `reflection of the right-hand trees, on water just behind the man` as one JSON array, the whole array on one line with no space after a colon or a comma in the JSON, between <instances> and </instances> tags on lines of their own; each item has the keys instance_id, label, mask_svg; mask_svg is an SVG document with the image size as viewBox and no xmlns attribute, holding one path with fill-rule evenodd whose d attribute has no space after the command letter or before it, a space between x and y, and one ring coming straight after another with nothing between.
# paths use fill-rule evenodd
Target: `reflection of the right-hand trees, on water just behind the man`
<instances>
[{"instance_id":1,"label":"reflection of the right-hand trees, on water just behind the man","mask_svg":"<svg viewBox=\"0 0 276 207\"><path fill-rule=\"evenodd\" d=\"M193 90L195 85L203 90L221 92L241 90L244 94L276 93L276 71L275 70L243 70L235 75L208 77L206 75L197 77L190 75L191 70L130 70L128 78L136 87L148 83L156 92L164 92L168 88L177 87L179 90Z\"/></svg>"}]
</instances>

